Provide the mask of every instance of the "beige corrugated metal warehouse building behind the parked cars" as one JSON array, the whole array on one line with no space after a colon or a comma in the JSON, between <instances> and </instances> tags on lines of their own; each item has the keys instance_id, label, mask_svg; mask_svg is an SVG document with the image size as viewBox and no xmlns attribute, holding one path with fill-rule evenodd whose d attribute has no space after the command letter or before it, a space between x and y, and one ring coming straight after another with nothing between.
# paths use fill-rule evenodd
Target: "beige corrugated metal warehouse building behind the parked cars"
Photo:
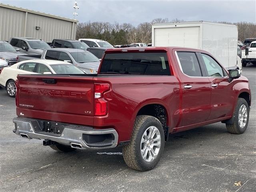
<instances>
[{"instance_id":1,"label":"beige corrugated metal warehouse building behind the parked cars","mask_svg":"<svg viewBox=\"0 0 256 192\"><path fill-rule=\"evenodd\" d=\"M54 38L75 39L78 20L0 3L0 40L32 37L52 42Z\"/></svg>"}]
</instances>

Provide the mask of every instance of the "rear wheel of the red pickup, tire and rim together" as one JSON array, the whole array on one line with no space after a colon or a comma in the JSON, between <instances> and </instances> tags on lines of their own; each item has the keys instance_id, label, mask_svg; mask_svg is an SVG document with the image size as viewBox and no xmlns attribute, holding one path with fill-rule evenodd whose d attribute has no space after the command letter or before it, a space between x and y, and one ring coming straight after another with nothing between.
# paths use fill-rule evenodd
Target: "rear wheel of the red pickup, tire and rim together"
<instances>
[{"instance_id":1,"label":"rear wheel of the red pickup, tire and rim together","mask_svg":"<svg viewBox=\"0 0 256 192\"><path fill-rule=\"evenodd\" d=\"M126 164L135 170L151 170L164 150L164 129L160 121L148 115L136 117L132 137L122 152Z\"/></svg>"}]
</instances>

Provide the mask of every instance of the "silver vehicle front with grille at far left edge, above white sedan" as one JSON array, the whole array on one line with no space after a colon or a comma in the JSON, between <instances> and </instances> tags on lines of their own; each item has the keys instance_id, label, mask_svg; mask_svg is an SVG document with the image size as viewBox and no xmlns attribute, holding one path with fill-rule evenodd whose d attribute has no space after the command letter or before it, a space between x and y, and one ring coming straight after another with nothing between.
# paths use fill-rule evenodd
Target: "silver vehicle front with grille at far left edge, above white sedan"
<instances>
[{"instance_id":1,"label":"silver vehicle front with grille at far left edge, above white sedan","mask_svg":"<svg viewBox=\"0 0 256 192\"><path fill-rule=\"evenodd\" d=\"M21 53L19 49L14 49L8 42L0 41L0 59L5 60L8 65L13 65L17 62L17 56L26 55Z\"/></svg>"}]
</instances>

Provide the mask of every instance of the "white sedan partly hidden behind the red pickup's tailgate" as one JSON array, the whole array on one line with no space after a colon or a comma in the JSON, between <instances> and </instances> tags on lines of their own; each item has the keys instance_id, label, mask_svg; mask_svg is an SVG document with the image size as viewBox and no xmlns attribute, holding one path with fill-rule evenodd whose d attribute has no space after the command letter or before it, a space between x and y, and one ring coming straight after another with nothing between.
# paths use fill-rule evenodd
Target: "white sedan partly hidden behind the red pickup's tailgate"
<instances>
[{"instance_id":1,"label":"white sedan partly hidden behind the red pickup's tailgate","mask_svg":"<svg viewBox=\"0 0 256 192\"><path fill-rule=\"evenodd\" d=\"M10 67L3 68L0 74L0 85L6 89L10 97L16 95L18 74L85 74L71 63L57 60L26 60Z\"/></svg>"}]
</instances>

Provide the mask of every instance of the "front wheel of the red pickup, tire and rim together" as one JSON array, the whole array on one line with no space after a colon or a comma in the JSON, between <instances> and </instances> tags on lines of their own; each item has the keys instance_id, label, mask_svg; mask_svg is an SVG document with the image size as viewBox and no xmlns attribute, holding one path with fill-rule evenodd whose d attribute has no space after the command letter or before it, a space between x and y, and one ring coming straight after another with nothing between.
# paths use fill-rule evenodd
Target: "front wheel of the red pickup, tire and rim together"
<instances>
[{"instance_id":1,"label":"front wheel of the red pickup, tire and rim together","mask_svg":"<svg viewBox=\"0 0 256 192\"><path fill-rule=\"evenodd\" d=\"M233 124L226 124L228 132L242 134L245 132L249 122L249 106L244 98L238 98L234 111Z\"/></svg>"}]
</instances>

